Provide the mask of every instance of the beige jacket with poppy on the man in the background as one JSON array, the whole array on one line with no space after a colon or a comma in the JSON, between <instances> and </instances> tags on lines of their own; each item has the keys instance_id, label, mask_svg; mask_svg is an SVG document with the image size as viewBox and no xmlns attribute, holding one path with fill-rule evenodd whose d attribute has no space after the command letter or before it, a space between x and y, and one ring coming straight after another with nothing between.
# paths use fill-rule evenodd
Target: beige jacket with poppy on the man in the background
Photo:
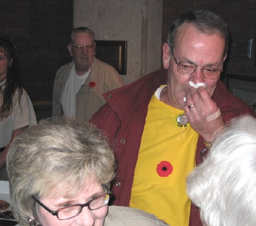
<instances>
[{"instance_id":1,"label":"beige jacket with poppy on the man in the background","mask_svg":"<svg viewBox=\"0 0 256 226\"><path fill-rule=\"evenodd\" d=\"M72 61L57 70L53 85L52 116L63 115L60 99L73 64L75 62ZM90 82L96 85L90 87ZM121 86L123 81L118 72L112 66L94 58L89 76L76 94L76 116L88 121L106 103L102 94Z\"/></svg>"}]
</instances>

